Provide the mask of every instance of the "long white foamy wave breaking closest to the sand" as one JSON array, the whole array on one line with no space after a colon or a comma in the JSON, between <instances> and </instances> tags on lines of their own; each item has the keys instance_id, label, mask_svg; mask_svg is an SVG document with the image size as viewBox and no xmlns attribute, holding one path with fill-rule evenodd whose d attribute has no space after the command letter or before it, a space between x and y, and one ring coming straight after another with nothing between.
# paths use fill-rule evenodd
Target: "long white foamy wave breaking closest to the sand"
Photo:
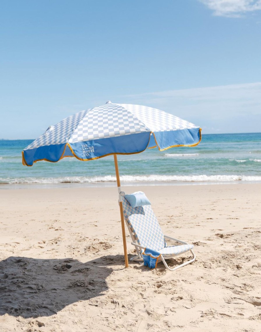
<instances>
[{"instance_id":1,"label":"long white foamy wave breaking closest to the sand","mask_svg":"<svg viewBox=\"0 0 261 332\"><path fill-rule=\"evenodd\" d=\"M176 183L176 182L234 182L261 181L261 176L244 175L123 175L121 181L125 183ZM58 178L0 178L0 183L6 184L59 184L59 183L90 183L116 182L116 176L94 177L58 177Z\"/></svg>"}]
</instances>

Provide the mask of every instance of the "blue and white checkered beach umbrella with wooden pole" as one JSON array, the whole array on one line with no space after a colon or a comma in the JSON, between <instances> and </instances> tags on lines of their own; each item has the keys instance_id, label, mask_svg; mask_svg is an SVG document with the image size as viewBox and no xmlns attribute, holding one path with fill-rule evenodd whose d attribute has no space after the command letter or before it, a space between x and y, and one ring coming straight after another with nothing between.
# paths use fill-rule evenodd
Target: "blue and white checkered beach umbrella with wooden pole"
<instances>
[{"instance_id":1,"label":"blue and white checkered beach umbrella with wooden pole","mask_svg":"<svg viewBox=\"0 0 261 332\"><path fill-rule=\"evenodd\" d=\"M195 146L201 128L158 109L132 104L106 104L78 112L54 126L22 151L23 164L40 160L57 162L64 157L89 161L114 155L122 222L125 266L128 267L126 235L117 155L146 148L160 151L175 146Z\"/></svg>"}]
</instances>

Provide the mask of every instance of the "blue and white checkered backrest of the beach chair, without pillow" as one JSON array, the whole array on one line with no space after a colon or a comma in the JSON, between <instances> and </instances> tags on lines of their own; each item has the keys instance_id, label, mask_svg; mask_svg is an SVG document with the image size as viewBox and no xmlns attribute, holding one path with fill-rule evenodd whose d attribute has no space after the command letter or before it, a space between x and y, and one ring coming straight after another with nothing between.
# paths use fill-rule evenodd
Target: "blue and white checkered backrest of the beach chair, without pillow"
<instances>
[{"instance_id":1,"label":"blue and white checkered backrest of the beach chair, without pillow","mask_svg":"<svg viewBox=\"0 0 261 332\"><path fill-rule=\"evenodd\" d=\"M153 250L165 247L164 235L150 205L131 207L123 197L123 213L139 245Z\"/></svg>"}]
</instances>

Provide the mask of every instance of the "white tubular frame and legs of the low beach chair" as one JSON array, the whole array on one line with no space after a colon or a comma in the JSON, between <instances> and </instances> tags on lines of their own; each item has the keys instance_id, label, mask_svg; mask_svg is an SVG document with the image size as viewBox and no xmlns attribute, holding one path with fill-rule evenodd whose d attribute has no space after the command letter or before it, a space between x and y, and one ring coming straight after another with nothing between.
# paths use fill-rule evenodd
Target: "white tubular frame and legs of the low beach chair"
<instances>
[{"instance_id":1,"label":"white tubular frame and legs of the low beach chair","mask_svg":"<svg viewBox=\"0 0 261 332\"><path fill-rule=\"evenodd\" d=\"M129 222L128 222L128 220L127 220L126 218L125 218L125 222L126 222L127 228L128 228L128 230L129 230L129 232L130 232L130 235L131 235L131 239L132 239L131 244L135 247L136 252L137 252L137 256L132 257L132 258L130 259L130 261L142 262L142 261L143 261L143 258L142 258L142 252L145 250L146 247L144 247L144 246L142 246L142 245L140 245L140 244L137 243L137 242L138 242L138 239L136 239L135 234L133 233L133 231L132 231L132 229L131 229L131 227L130 227L130 224L129 224ZM166 240L172 240L172 241L175 241L175 242L178 242L178 243L181 243L181 244L186 244L186 245L188 245L187 242L184 242L184 241L181 241L181 240L175 239L175 238L170 237L170 236L167 236L167 235L164 235L164 240L165 240L165 242L166 242ZM153 248L150 248L150 249L153 249ZM185 263L182 263L182 264L180 264L180 265L178 265L178 266L176 266L176 267L174 267L174 268L171 268L171 267L168 266L168 264L167 264L165 258L166 258L166 259L174 258L174 257L180 256L181 254L184 254L184 253L189 252L189 251L190 251L190 253L191 253L191 257L192 257L191 260L189 260L189 261L187 261L187 262L185 262ZM161 260L161 261L163 262L164 266L166 267L166 269L168 269L169 271L175 271L175 270L177 270L177 269L179 269L179 268L181 268L181 267L183 267L183 266L185 266L185 265L188 265L188 264L193 263L193 262L195 261L195 259L196 259L196 255L195 255L194 251L193 251L192 249L189 249L189 250L187 250L187 251L184 251L184 252L182 252L182 253L178 253L178 254L171 254L171 255L160 254L160 257L159 257L159 260L158 260L158 261Z\"/></svg>"}]
</instances>

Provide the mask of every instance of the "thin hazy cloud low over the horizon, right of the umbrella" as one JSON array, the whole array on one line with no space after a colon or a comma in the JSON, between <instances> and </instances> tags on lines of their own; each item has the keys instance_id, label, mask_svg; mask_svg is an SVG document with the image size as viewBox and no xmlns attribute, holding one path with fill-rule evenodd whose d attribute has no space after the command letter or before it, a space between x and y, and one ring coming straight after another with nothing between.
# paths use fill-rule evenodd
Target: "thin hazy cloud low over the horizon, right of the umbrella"
<instances>
[{"instance_id":1,"label":"thin hazy cloud low over the horizon, right of the umbrella","mask_svg":"<svg viewBox=\"0 0 261 332\"><path fill-rule=\"evenodd\" d=\"M127 98L126 98L127 97ZM260 131L261 82L169 90L122 97L205 126L208 132Z\"/></svg>"}]
</instances>

